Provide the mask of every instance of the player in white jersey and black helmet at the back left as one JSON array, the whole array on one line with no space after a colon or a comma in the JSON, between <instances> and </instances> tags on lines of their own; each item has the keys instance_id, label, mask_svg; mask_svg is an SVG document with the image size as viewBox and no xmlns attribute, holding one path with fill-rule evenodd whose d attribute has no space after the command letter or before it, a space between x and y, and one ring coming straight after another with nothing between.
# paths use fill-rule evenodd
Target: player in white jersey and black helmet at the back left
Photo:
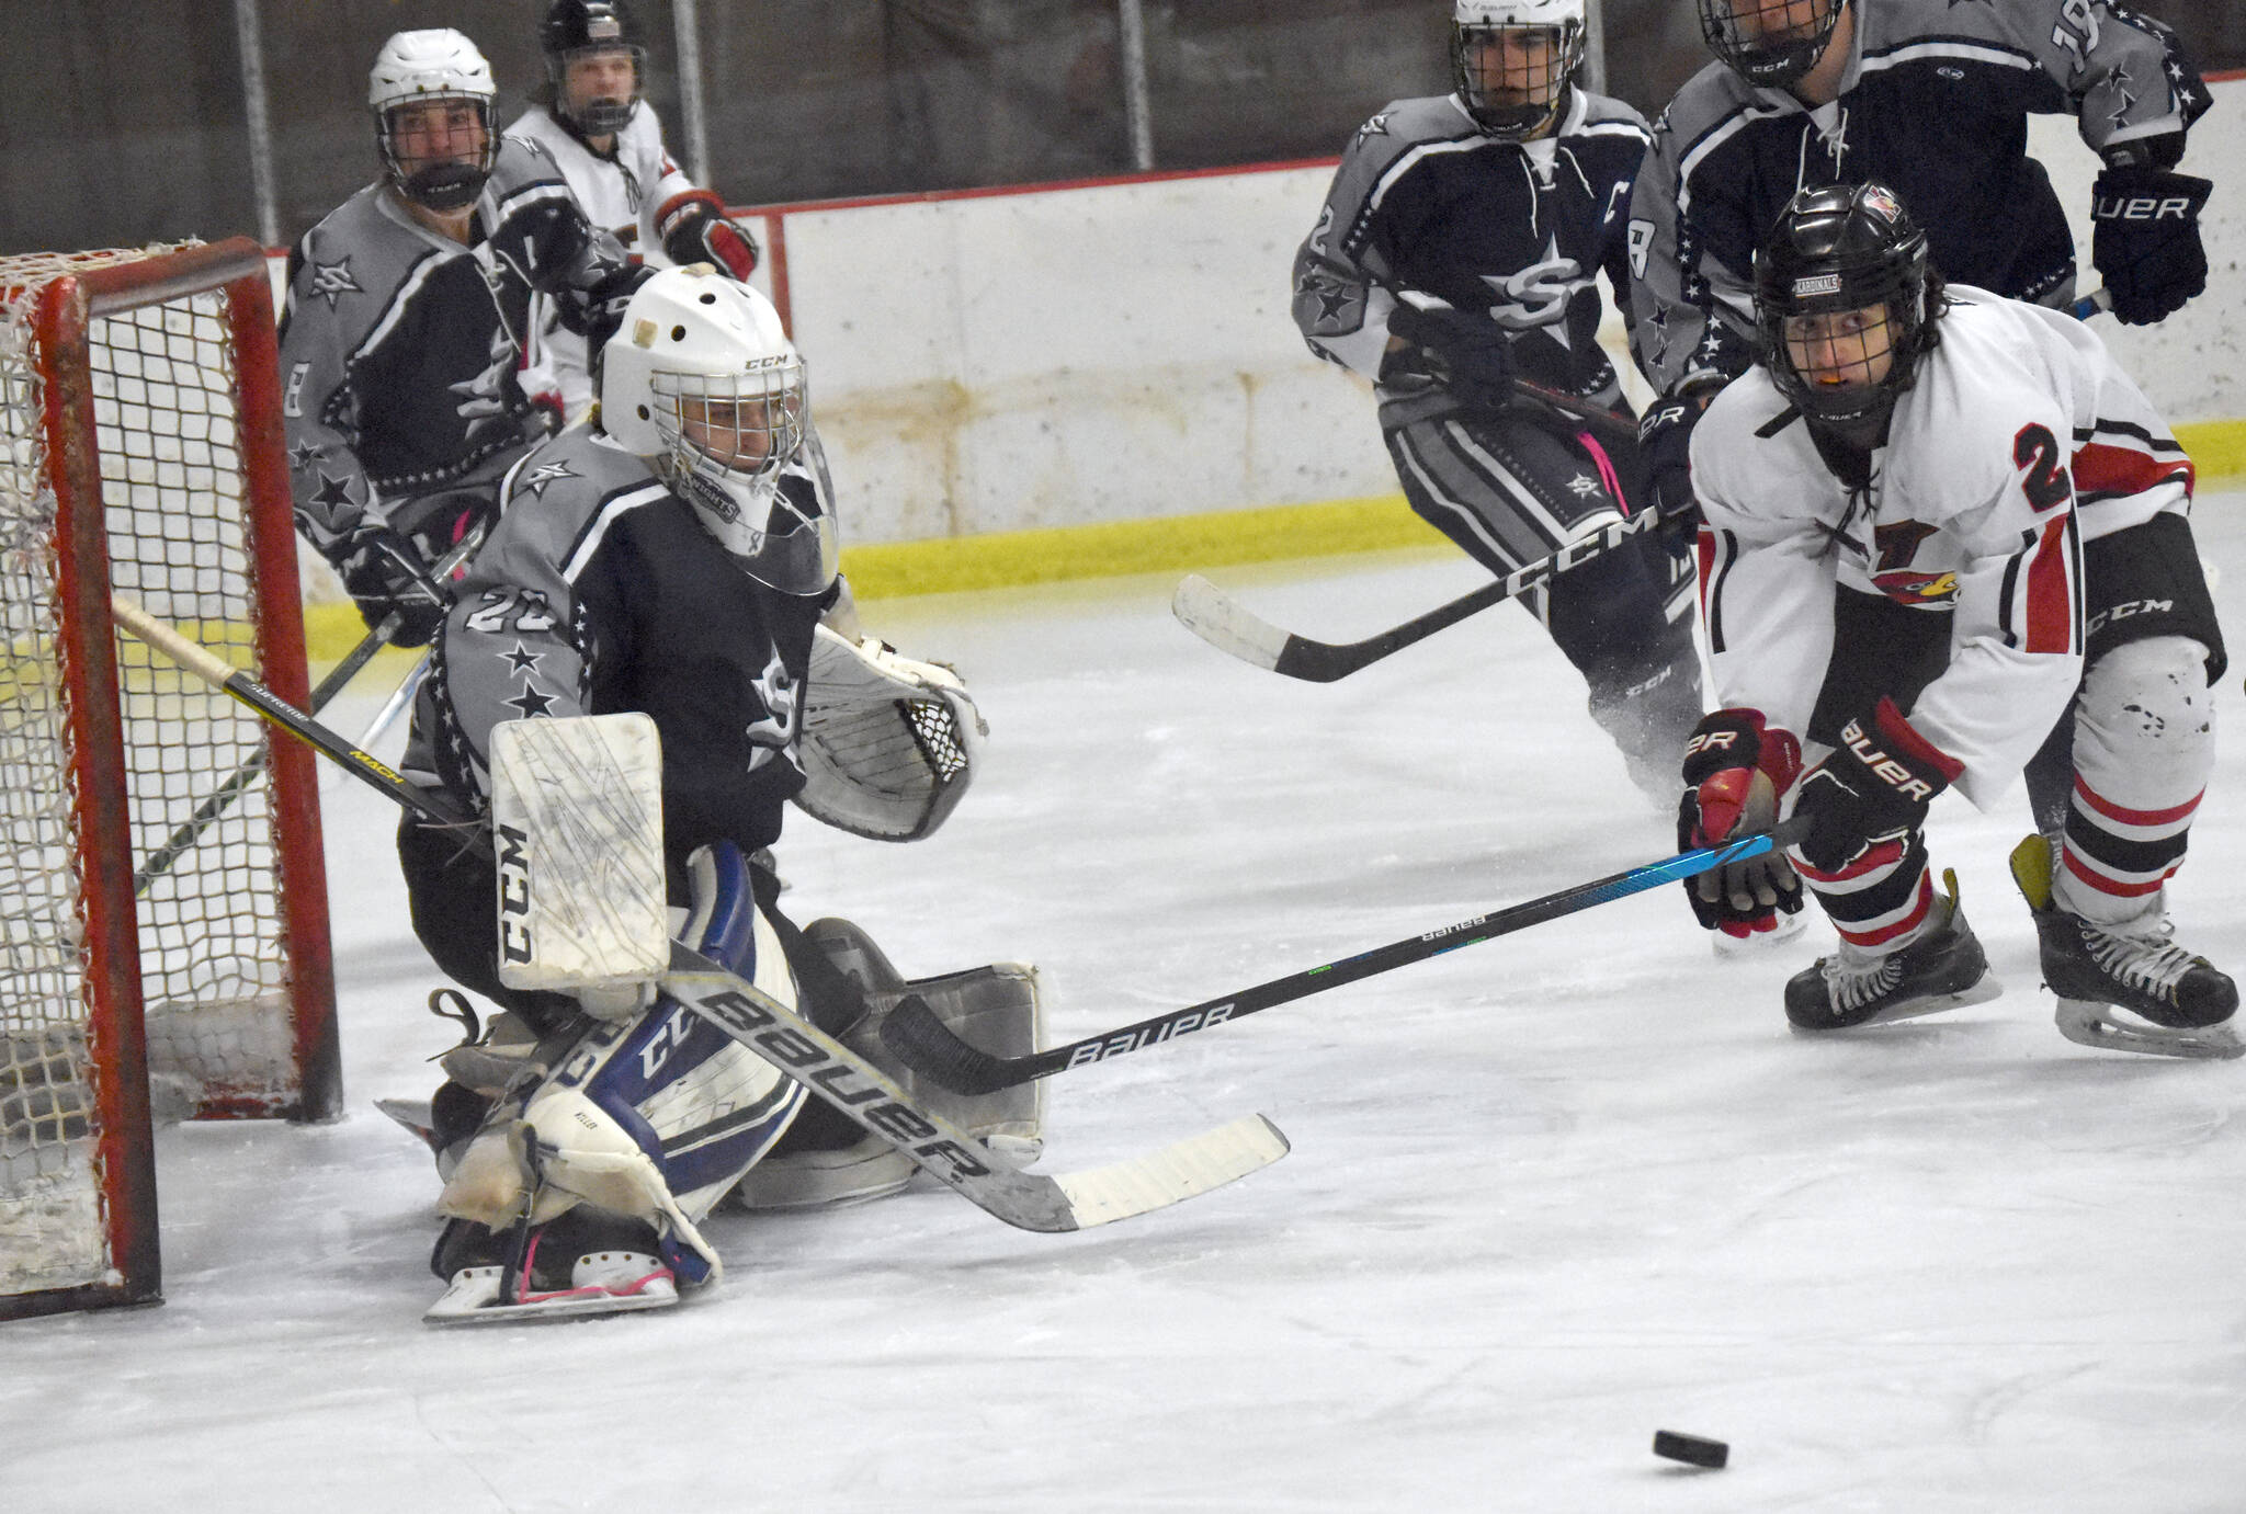
<instances>
[{"instance_id":1,"label":"player in white jersey and black helmet at the back left","mask_svg":"<svg viewBox=\"0 0 2246 1514\"><path fill-rule=\"evenodd\" d=\"M624 0L555 0L539 25L546 83L510 137L553 155L577 204L654 267L714 263L743 283L757 270L757 243L725 216L663 146L663 121L640 94L647 43ZM532 404L570 418L593 402L586 341L553 301L532 305L535 346L523 368Z\"/></svg>"}]
</instances>

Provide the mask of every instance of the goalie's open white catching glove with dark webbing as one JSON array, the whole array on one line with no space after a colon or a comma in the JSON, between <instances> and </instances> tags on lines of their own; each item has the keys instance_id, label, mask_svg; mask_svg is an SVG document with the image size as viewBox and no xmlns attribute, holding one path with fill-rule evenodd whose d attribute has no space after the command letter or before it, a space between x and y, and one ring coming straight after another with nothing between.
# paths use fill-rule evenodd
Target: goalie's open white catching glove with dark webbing
<instances>
[{"instance_id":1,"label":"goalie's open white catching glove with dark webbing","mask_svg":"<svg viewBox=\"0 0 2246 1514\"><path fill-rule=\"evenodd\" d=\"M806 683L795 804L871 840L934 833L966 795L988 735L959 674L820 624Z\"/></svg>"}]
</instances>

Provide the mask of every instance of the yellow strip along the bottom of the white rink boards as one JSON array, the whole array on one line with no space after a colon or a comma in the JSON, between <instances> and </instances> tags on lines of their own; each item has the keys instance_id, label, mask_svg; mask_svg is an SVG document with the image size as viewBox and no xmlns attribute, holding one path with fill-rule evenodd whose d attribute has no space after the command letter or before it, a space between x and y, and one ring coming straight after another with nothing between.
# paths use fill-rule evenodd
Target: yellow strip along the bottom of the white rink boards
<instances>
[{"instance_id":1,"label":"yellow strip along the bottom of the white rink boards","mask_svg":"<svg viewBox=\"0 0 2246 1514\"><path fill-rule=\"evenodd\" d=\"M2181 425L2176 440L2199 467L2201 485L2246 476L2246 420ZM842 573L860 600L883 600L1410 546L1440 548L1446 541L1410 512L1402 494L1377 494L1323 505L1267 505L932 541L871 541L844 548ZM350 604L310 604L303 631L312 663L335 663L359 645L366 622Z\"/></svg>"}]
</instances>

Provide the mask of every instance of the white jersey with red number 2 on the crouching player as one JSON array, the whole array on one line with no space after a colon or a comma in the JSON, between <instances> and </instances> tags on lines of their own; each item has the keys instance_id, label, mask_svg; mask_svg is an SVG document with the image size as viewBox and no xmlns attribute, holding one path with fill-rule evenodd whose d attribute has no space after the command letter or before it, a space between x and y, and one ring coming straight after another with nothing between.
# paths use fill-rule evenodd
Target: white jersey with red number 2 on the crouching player
<instances>
[{"instance_id":1,"label":"white jersey with red number 2 on the crouching player","mask_svg":"<svg viewBox=\"0 0 2246 1514\"><path fill-rule=\"evenodd\" d=\"M1768 368L1691 438L1700 613L1718 708L1808 732L1835 584L1950 618L1950 665L1911 723L2001 797L2082 676L2080 541L2188 512L2192 465L2096 332L1952 285L1941 344L1851 490Z\"/></svg>"}]
</instances>

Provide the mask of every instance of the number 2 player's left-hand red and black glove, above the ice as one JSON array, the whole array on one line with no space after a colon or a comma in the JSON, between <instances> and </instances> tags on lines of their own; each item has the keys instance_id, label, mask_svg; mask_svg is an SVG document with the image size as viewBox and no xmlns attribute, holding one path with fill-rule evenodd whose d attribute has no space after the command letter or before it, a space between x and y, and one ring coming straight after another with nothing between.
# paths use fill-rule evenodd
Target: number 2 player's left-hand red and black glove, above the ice
<instances>
[{"instance_id":1,"label":"number 2 player's left-hand red and black glove, above the ice","mask_svg":"<svg viewBox=\"0 0 2246 1514\"><path fill-rule=\"evenodd\" d=\"M1716 710L1700 717L1684 746L1678 851L1768 831L1779 822L1779 795L1799 770L1801 744L1790 730L1763 726L1761 710ZM1801 910L1801 878L1783 854L1765 851L1684 878L1684 899L1702 930L1745 939L1759 930L1777 930L1781 912Z\"/></svg>"}]
</instances>

